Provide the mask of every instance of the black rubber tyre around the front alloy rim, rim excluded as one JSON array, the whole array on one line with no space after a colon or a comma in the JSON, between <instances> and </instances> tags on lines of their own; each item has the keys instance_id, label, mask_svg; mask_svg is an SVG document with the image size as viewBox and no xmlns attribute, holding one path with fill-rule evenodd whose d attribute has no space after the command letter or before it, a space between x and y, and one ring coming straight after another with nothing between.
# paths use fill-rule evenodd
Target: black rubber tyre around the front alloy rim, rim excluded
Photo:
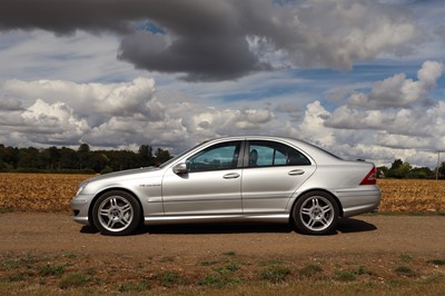
<instances>
[{"instance_id":1,"label":"black rubber tyre around the front alloy rim, rim excluded","mask_svg":"<svg viewBox=\"0 0 445 296\"><path fill-rule=\"evenodd\" d=\"M127 226L127 228L120 230L120 231L110 231L107 228L105 228L100 221L99 221L99 217L98 217L98 210L99 210L99 205L107 199L110 196L119 196L121 198L125 198L132 207L132 220L131 223ZM95 201L95 205L92 207L92 223L95 225L95 227L102 234L102 235L109 235L109 236L125 236L125 235L129 235L132 231L136 230L136 228L140 225L140 220L141 220L141 214L140 214L140 206L139 203L136 200L136 198L126 193L126 191L120 191L120 190L112 190L112 191L108 191L102 194L101 196L99 196L99 198Z\"/></svg>"}]
</instances>

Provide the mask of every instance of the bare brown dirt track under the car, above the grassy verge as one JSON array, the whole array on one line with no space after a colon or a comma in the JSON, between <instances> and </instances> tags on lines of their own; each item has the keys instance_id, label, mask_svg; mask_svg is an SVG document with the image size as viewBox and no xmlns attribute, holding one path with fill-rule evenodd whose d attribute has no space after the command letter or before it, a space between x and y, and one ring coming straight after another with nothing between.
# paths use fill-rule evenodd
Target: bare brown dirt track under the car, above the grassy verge
<instances>
[{"instance_id":1,"label":"bare brown dirt track under the car, above the grassy verge","mask_svg":"<svg viewBox=\"0 0 445 296\"><path fill-rule=\"evenodd\" d=\"M107 237L66 214L0 215L0 253L76 251L89 255L206 257L225 251L256 256L418 254L445 257L443 216L359 216L336 235L296 234L283 225L145 227L137 235Z\"/></svg>"}]
</instances>

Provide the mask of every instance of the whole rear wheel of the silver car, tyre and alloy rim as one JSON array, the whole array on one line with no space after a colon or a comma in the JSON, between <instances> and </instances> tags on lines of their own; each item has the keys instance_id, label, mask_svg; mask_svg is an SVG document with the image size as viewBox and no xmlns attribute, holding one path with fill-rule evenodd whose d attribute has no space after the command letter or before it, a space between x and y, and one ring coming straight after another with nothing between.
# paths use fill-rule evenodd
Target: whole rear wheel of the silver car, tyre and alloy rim
<instances>
[{"instance_id":1,"label":"whole rear wheel of the silver car, tyre and alloy rim","mask_svg":"<svg viewBox=\"0 0 445 296\"><path fill-rule=\"evenodd\" d=\"M338 224L338 205L334 197L327 193L307 193L295 204L293 218L297 230L301 234L330 234Z\"/></svg>"}]
</instances>

